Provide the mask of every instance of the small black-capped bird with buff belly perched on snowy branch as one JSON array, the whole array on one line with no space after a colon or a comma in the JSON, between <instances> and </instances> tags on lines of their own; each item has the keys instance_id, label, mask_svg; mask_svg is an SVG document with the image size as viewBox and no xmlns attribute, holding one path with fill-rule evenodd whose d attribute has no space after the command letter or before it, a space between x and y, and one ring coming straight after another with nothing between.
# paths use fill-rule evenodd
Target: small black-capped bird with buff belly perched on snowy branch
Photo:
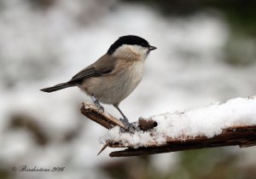
<instances>
[{"instance_id":1,"label":"small black-capped bird with buff belly perched on snowy branch","mask_svg":"<svg viewBox=\"0 0 256 179\"><path fill-rule=\"evenodd\" d=\"M123 118L120 118L125 128L131 130L128 118L119 109L119 103L136 89L143 79L144 61L149 52L156 47L138 36L122 36L102 55L95 63L78 72L67 83L56 84L53 87L42 89L44 92L53 92L68 87L77 86L91 96L102 112L100 104L112 104Z\"/></svg>"}]
</instances>

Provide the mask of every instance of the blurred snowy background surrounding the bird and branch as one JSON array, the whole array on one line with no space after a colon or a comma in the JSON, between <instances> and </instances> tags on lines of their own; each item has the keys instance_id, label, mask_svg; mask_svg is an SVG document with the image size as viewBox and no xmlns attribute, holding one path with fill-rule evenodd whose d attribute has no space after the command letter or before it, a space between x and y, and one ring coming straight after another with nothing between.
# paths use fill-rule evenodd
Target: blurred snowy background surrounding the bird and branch
<instances>
[{"instance_id":1,"label":"blurred snowy background surrounding the bird and branch","mask_svg":"<svg viewBox=\"0 0 256 179\"><path fill-rule=\"evenodd\" d=\"M76 88L39 91L133 34L158 49L120 105L131 121L255 95L255 21L256 4L238 0L1 0L0 178L255 178L255 147L130 159L111 159L107 149L96 156L106 130L79 113L90 98ZM66 168L21 172L21 165Z\"/></svg>"}]
</instances>

